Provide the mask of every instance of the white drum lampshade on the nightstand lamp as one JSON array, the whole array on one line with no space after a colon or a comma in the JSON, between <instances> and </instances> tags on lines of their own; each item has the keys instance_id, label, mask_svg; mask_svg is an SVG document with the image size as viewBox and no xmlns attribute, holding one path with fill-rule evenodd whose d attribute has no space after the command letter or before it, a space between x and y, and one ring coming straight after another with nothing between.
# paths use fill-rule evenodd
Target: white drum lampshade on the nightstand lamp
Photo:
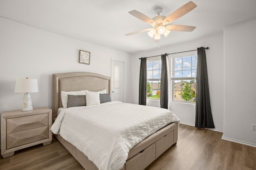
<instances>
[{"instance_id":1,"label":"white drum lampshade on the nightstand lamp","mask_svg":"<svg viewBox=\"0 0 256 170\"><path fill-rule=\"evenodd\" d=\"M15 90L16 93L31 93L38 92L37 79L17 79Z\"/></svg>"}]
</instances>

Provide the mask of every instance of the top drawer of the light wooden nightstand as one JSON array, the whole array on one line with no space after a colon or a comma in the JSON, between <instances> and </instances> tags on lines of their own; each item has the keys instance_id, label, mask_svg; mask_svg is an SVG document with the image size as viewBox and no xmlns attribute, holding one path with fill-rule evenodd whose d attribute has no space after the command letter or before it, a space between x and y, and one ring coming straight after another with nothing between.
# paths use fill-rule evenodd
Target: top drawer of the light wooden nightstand
<instances>
[{"instance_id":1,"label":"top drawer of the light wooden nightstand","mask_svg":"<svg viewBox=\"0 0 256 170\"><path fill-rule=\"evenodd\" d=\"M48 113L30 115L6 120L6 133L14 133L48 126Z\"/></svg>"}]
</instances>

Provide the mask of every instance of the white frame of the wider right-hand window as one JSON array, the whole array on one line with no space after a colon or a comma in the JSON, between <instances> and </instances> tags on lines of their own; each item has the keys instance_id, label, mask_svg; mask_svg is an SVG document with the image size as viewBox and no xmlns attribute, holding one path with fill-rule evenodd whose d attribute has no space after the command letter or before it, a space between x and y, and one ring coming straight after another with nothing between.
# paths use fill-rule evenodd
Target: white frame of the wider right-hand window
<instances>
[{"instance_id":1,"label":"white frame of the wider right-hand window","mask_svg":"<svg viewBox=\"0 0 256 170\"><path fill-rule=\"evenodd\" d=\"M196 56L196 63L197 63L197 51L190 51L190 52L184 52L184 53L180 53L180 54L174 54L174 55L169 55L170 57L170 84L171 84L171 102L176 102L176 103L183 103L183 104L196 104L196 102L187 102L187 101L175 101L174 100L174 82L175 80L181 80L181 81L186 81L186 80L194 80L196 81L196 75L194 77L181 77L181 78L175 78L174 76L174 72L173 72L173 59L175 58L180 58L180 57L188 57L188 56ZM197 64L196 64L197 67ZM191 89L192 90L192 89Z\"/></svg>"}]
</instances>

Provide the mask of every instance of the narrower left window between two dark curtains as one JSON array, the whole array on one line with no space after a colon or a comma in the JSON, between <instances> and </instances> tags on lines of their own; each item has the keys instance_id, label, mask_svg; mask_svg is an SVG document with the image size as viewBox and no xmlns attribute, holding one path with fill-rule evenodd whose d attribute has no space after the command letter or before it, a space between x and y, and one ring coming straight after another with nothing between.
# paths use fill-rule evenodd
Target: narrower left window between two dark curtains
<instances>
[{"instance_id":1,"label":"narrower left window between two dark curtains","mask_svg":"<svg viewBox=\"0 0 256 170\"><path fill-rule=\"evenodd\" d=\"M160 100L161 60L147 62L147 98Z\"/></svg>"}]
</instances>

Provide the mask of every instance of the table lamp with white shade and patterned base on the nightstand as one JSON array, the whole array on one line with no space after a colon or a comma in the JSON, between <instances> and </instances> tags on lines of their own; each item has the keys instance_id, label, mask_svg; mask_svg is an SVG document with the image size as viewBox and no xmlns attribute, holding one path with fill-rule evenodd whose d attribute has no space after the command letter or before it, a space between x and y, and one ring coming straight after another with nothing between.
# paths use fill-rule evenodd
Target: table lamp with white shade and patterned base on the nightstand
<instances>
[{"instance_id":1,"label":"table lamp with white shade and patterned base on the nightstand","mask_svg":"<svg viewBox=\"0 0 256 170\"><path fill-rule=\"evenodd\" d=\"M28 78L17 79L14 92L24 93L22 111L33 110L29 93L38 92L37 79L28 79Z\"/></svg>"}]
</instances>

